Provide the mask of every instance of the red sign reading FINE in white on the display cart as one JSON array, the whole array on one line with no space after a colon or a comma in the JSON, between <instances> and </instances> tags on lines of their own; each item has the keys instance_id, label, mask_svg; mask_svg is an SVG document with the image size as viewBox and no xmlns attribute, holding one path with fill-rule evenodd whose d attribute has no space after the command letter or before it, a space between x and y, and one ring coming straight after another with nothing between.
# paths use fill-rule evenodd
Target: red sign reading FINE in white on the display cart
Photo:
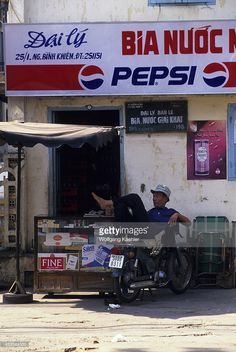
<instances>
[{"instance_id":1,"label":"red sign reading FINE in white on the display cart","mask_svg":"<svg viewBox=\"0 0 236 352\"><path fill-rule=\"evenodd\" d=\"M67 254L65 253L39 253L39 270L65 270Z\"/></svg>"}]
</instances>

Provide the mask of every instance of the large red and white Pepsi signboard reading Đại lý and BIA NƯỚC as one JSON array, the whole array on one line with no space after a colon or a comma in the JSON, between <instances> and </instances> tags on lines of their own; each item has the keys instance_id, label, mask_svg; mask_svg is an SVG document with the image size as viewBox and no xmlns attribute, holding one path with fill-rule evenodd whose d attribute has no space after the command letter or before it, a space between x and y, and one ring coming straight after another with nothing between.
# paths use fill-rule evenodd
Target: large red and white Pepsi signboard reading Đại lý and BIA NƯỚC
<instances>
[{"instance_id":1,"label":"large red and white Pepsi signboard reading \u0110\u1ea1i l\u00fd and BIA N\u01af\u1edaC","mask_svg":"<svg viewBox=\"0 0 236 352\"><path fill-rule=\"evenodd\" d=\"M236 20L5 24L6 94L236 92Z\"/></svg>"}]
</instances>

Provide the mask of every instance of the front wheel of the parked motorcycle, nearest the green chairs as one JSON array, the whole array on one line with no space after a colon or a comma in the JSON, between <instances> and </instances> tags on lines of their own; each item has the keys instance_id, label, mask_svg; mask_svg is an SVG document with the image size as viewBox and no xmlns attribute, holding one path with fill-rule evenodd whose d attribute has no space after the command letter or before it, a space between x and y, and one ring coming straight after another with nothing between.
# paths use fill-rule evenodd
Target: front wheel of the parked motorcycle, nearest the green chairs
<instances>
[{"instance_id":1,"label":"front wheel of the parked motorcycle, nearest the green chairs","mask_svg":"<svg viewBox=\"0 0 236 352\"><path fill-rule=\"evenodd\" d=\"M169 288L175 294L184 293L192 278L192 261L185 250L180 250L183 266L179 266L176 252L172 252L168 262L168 276L170 278Z\"/></svg>"}]
</instances>

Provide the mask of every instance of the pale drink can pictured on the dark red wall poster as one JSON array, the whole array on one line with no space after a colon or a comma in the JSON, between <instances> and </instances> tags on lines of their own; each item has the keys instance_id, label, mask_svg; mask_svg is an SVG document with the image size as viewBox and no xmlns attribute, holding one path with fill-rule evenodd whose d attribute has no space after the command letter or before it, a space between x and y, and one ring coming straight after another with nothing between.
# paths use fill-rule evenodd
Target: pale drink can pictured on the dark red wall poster
<instances>
[{"instance_id":1,"label":"pale drink can pictured on the dark red wall poster","mask_svg":"<svg viewBox=\"0 0 236 352\"><path fill-rule=\"evenodd\" d=\"M209 175L209 141L207 139L194 141L195 175Z\"/></svg>"}]
</instances>

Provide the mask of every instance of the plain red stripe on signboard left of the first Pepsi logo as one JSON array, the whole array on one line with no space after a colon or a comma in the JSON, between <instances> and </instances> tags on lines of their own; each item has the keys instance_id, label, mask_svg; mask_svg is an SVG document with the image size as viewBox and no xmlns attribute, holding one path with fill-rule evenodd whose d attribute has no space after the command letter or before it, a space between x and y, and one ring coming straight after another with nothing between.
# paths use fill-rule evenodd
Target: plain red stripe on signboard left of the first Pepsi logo
<instances>
[{"instance_id":1,"label":"plain red stripe on signboard left of the first Pepsi logo","mask_svg":"<svg viewBox=\"0 0 236 352\"><path fill-rule=\"evenodd\" d=\"M7 90L83 90L78 75L85 65L8 65Z\"/></svg>"}]
</instances>

